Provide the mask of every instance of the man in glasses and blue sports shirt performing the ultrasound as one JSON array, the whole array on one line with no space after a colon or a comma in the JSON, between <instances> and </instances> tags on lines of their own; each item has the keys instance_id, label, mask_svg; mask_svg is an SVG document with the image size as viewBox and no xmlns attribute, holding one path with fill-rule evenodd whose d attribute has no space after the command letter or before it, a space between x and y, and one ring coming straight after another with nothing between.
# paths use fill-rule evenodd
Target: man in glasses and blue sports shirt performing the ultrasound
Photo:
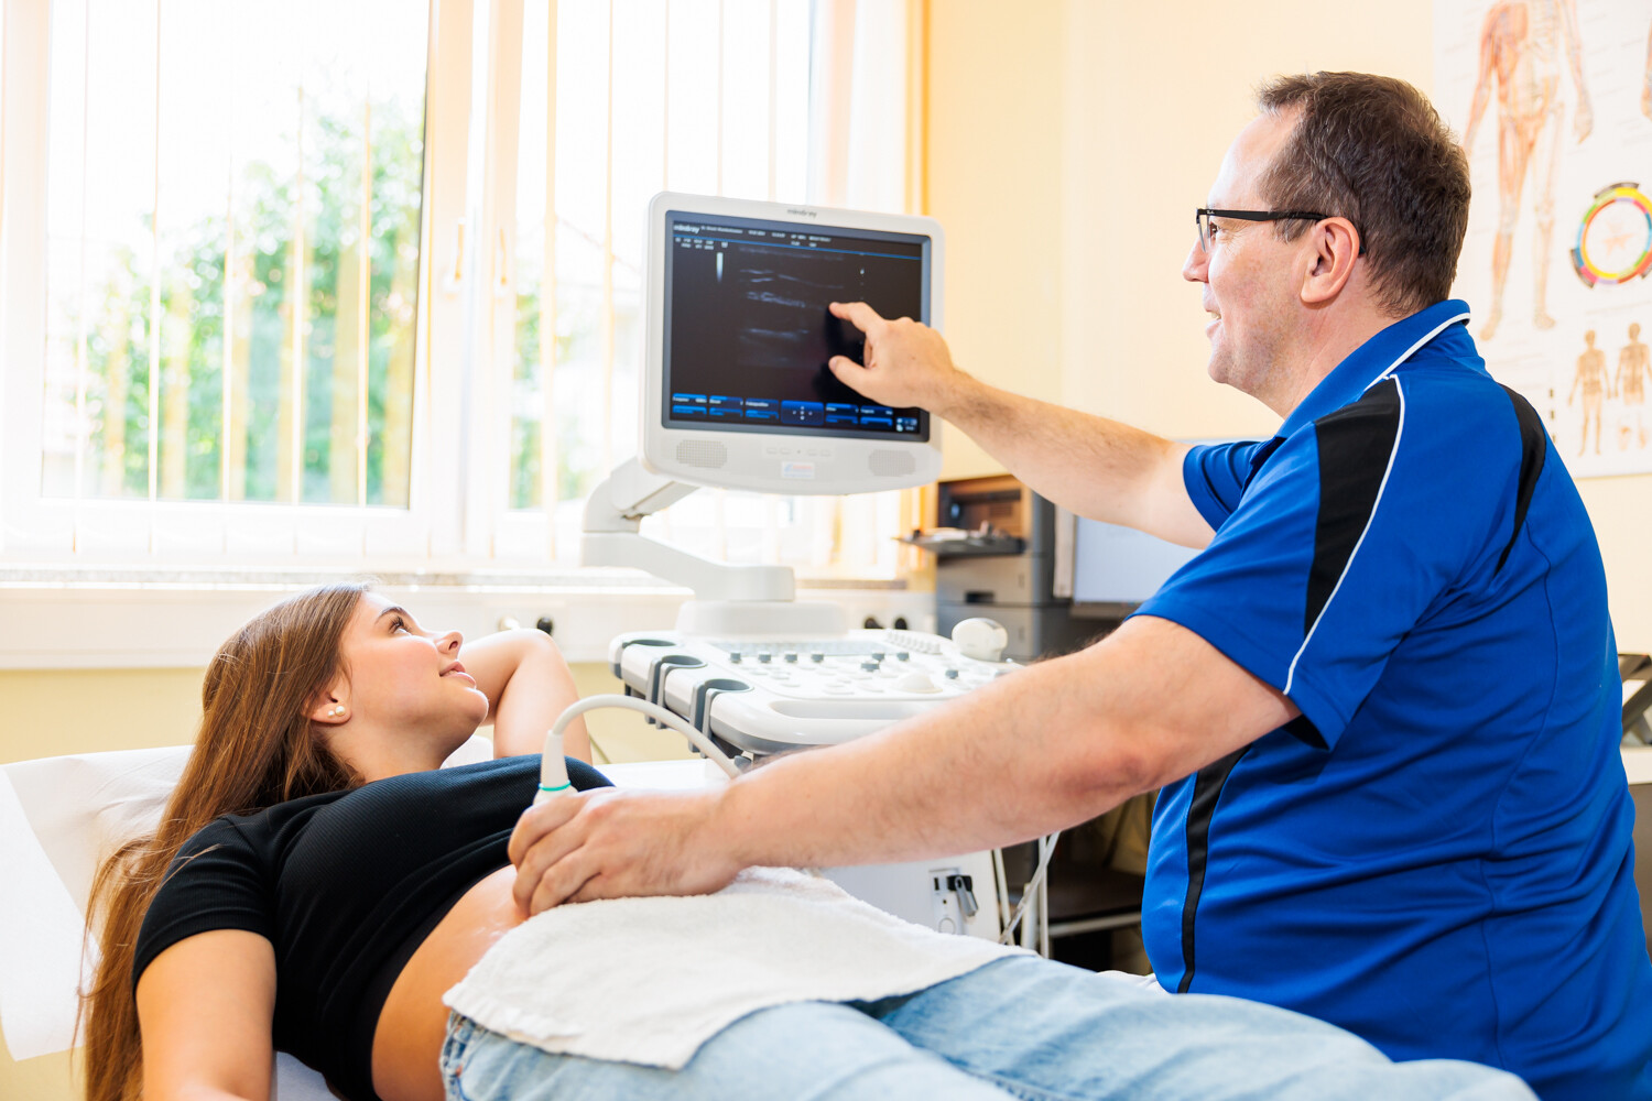
<instances>
[{"instance_id":1,"label":"man in glasses and blue sports shirt performing the ultrasound","mask_svg":"<svg viewBox=\"0 0 1652 1101\"><path fill-rule=\"evenodd\" d=\"M1285 418L1186 447L957 371L866 305L885 404L961 428L1082 515L1204 550L1090 649L697 796L524 815L517 900L715 890L742 867L990 848L1163 787L1143 936L1168 990L1393 1058L1652 1098L1616 645L1588 515L1446 300L1467 162L1399 81L1285 78L1224 158L1183 276L1209 373Z\"/></svg>"}]
</instances>

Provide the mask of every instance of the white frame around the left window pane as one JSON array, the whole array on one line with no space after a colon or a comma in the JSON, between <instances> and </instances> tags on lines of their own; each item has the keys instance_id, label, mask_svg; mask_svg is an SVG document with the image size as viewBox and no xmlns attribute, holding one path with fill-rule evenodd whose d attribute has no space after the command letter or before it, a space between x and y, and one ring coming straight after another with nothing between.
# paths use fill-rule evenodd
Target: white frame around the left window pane
<instances>
[{"instance_id":1,"label":"white frame around the left window pane","mask_svg":"<svg viewBox=\"0 0 1652 1101\"><path fill-rule=\"evenodd\" d=\"M486 2L486 0L484 0ZM463 556L443 517L463 513L453 464L464 432L461 371L471 258L464 233L471 106L471 0L430 3L418 335L410 500L400 507L291 502L53 499L41 492L46 409L46 170L53 0L7 0L0 63L0 561L324 565ZM459 150L456 155L449 150ZM438 267L439 266L439 267ZM443 271L448 279L434 279ZM446 413L443 413L446 411Z\"/></svg>"}]
</instances>

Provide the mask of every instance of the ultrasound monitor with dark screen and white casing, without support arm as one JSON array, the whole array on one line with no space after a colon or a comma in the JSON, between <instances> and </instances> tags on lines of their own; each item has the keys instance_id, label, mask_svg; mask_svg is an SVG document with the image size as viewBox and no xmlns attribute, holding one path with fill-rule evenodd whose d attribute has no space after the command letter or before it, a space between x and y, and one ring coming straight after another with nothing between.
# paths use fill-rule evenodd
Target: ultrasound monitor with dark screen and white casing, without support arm
<instances>
[{"instance_id":1,"label":"ultrasound monitor with dark screen and white casing, without support arm","mask_svg":"<svg viewBox=\"0 0 1652 1101\"><path fill-rule=\"evenodd\" d=\"M829 302L940 325L930 218L695 195L649 206L643 465L695 485L856 494L932 482L938 424L844 386Z\"/></svg>"}]
</instances>

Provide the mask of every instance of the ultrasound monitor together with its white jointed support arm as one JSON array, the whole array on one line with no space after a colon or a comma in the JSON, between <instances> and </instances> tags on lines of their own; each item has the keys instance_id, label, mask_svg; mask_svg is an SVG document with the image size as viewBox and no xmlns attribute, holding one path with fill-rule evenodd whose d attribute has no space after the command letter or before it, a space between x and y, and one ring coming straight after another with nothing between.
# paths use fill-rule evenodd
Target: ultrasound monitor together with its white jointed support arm
<instances>
[{"instance_id":1,"label":"ultrasound monitor together with its white jointed support arm","mask_svg":"<svg viewBox=\"0 0 1652 1101\"><path fill-rule=\"evenodd\" d=\"M677 631L833 637L791 569L732 566L646 538L700 485L788 495L909 489L940 474L928 413L869 403L831 373L859 330L831 302L940 325L942 231L930 218L661 193L648 208L641 454L591 490L580 555L694 589Z\"/></svg>"}]
</instances>

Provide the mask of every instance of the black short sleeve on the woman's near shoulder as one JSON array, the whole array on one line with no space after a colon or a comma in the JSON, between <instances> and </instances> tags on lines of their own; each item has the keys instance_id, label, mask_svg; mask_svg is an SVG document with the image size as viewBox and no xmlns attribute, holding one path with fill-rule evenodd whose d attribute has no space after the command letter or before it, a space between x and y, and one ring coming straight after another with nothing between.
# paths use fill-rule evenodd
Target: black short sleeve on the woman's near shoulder
<instances>
[{"instance_id":1,"label":"black short sleeve on the woman's near shoulder","mask_svg":"<svg viewBox=\"0 0 1652 1101\"><path fill-rule=\"evenodd\" d=\"M244 929L274 939L266 863L228 819L208 824L183 842L144 914L132 957L132 985L155 956L197 933Z\"/></svg>"}]
</instances>

